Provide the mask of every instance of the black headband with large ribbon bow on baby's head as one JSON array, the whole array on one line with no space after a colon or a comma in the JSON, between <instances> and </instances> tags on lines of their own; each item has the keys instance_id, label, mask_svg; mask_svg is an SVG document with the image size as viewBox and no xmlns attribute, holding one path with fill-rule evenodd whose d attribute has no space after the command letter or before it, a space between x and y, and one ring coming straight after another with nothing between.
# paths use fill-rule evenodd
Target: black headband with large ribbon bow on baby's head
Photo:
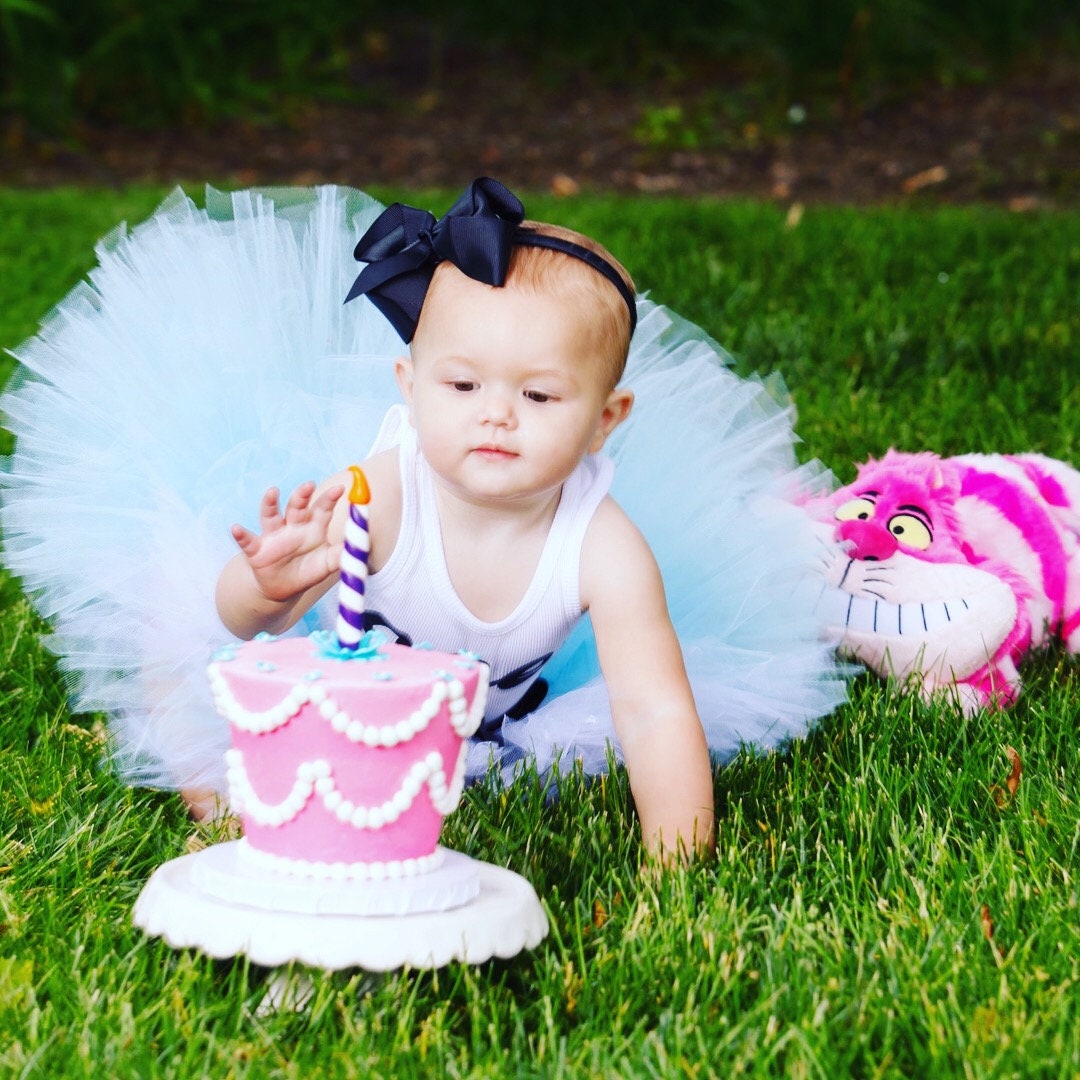
<instances>
[{"instance_id":1,"label":"black headband with large ribbon bow on baby's head","mask_svg":"<svg viewBox=\"0 0 1080 1080\"><path fill-rule=\"evenodd\" d=\"M502 285L513 247L546 247L591 266L619 291L637 325L637 303L622 274L595 252L561 237L523 228L525 207L498 180L482 176L437 220L415 206L394 203L372 222L353 255L367 265L346 303L360 295L390 320L403 341L411 341L435 267L446 260L485 285Z\"/></svg>"}]
</instances>

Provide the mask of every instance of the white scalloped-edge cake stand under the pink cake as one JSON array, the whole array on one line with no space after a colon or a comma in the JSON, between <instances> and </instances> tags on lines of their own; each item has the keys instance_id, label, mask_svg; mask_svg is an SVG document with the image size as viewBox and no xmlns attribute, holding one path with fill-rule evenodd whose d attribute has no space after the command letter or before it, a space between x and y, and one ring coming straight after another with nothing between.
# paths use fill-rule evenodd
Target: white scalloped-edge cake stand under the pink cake
<instances>
[{"instance_id":1,"label":"white scalloped-edge cake stand under the pink cake","mask_svg":"<svg viewBox=\"0 0 1080 1080\"><path fill-rule=\"evenodd\" d=\"M525 878L459 852L447 852L451 873L475 874L478 890L471 900L446 910L363 915L349 914L350 907L363 909L363 902L342 904L341 897L349 890L370 891L370 882L327 886L328 913L320 909L327 905L320 903L319 886L297 903L295 880L244 866L237 860L238 845L214 845L159 866L135 903L135 924L174 948L199 948L216 958L243 954L266 967L299 961L328 971L483 963L532 948L548 933L548 918ZM230 876L237 885L231 895Z\"/></svg>"}]
</instances>

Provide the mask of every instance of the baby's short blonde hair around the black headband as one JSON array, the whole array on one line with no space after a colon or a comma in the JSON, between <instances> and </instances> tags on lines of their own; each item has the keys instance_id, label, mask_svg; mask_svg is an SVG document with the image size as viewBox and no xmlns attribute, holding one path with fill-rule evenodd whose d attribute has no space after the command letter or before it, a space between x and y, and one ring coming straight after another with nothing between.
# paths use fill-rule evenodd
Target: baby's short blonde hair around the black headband
<instances>
[{"instance_id":1,"label":"baby's short blonde hair around the black headband","mask_svg":"<svg viewBox=\"0 0 1080 1080\"><path fill-rule=\"evenodd\" d=\"M591 237L573 229L541 221L523 221L521 229L523 232L569 241L592 252L611 266L631 296L636 292L633 279L625 267ZM446 272L447 267L457 269L448 260L435 267L428 287L429 299L432 292L438 287L440 278ZM502 287L524 293L546 294L577 314L593 335L594 351L600 364L600 372L608 379L609 389L615 389L626 366L633 329L626 300L612 282L589 264L566 252L550 247L534 247L525 242L514 244L507 280Z\"/></svg>"}]
</instances>

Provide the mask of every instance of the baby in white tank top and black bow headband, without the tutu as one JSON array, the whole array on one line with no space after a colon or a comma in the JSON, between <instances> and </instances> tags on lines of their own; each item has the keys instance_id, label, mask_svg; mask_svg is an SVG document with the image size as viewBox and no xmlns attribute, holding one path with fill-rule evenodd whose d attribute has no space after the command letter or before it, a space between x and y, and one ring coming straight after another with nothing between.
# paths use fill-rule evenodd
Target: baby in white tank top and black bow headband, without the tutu
<instances>
[{"instance_id":1,"label":"baby in white tank top and black bow headband, without the tutu","mask_svg":"<svg viewBox=\"0 0 1080 1080\"><path fill-rule=\"evenodd\" d=\"M410 342L395 363L408 422L363 463L368 618L485 660L495 734L588 611L646 847L708 850L708 750L660 571L596 456L633 405L618 383L634 286L593 241L523 217L482 179L437 222L391 206L357 245L350 299ZM259 532L233 527L217 586L232 633L281 633L336 584L347 478L303 484L283 510L271 489Z\"/></svg>"}]
</instances>

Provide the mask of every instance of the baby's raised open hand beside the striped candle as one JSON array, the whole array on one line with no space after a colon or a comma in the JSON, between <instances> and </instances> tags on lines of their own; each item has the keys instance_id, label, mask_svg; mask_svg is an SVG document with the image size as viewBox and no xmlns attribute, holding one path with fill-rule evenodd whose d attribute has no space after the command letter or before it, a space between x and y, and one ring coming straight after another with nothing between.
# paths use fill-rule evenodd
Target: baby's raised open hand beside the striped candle
<instances>
[{"instance_id":1,"label":"baby's raised open hand beside the striped candle","mask_svg":"<svg viewBox=\"0 0 1080 1080\"><path fill-rule=\"evenodd\" d=\"M314 492L313 483L301 484L282 513L278 488L272 487L259 504L258 534L232 526L233 539L269 600L293 599L338 570L341 545L330 543L329 525L345 487L337 484L312 499Z\"/></svg>"}]
</instances>

